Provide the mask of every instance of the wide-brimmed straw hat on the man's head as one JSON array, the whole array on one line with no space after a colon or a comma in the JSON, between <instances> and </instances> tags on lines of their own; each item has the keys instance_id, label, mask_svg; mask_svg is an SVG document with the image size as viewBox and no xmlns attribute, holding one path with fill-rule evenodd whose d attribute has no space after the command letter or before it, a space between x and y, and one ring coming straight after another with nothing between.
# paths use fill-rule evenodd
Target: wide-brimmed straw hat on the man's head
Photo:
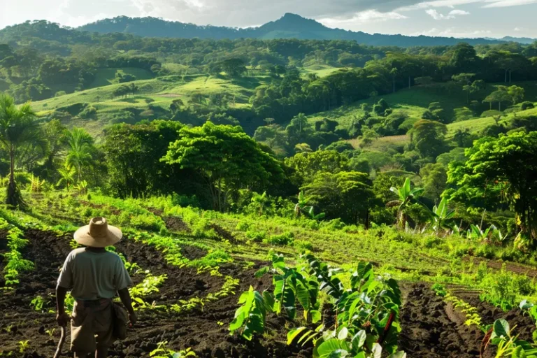
<instances>
[{"instance_id":1,"label":"wide-brimmed straw hat on the man's head","mask_svg":"<svg viewBox=\"0 0 537 358\"><path fill-rule=\"evenodd\" d=\"M94 217L89 225L75 232L75 241L92 248L106 248L119 242L122 236L121 230L108 225L104 217Z\"/></svg>"}]
</instances>

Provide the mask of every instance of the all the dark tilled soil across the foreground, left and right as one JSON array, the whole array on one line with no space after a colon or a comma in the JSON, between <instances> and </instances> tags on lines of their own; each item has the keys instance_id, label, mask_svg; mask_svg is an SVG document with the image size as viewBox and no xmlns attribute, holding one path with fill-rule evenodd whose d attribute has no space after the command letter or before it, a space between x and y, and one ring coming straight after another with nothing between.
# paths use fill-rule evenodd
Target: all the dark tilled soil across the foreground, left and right
<instances>
[{"instance_id":1,"label":"all the dark tilled soil across the foreground, left and right","mask_svg":"<svg viewBox=\"0 0 537 358\"><path fill-rule=\"evenodd\" d=\"M48 311L54 310L56 280L65 257L71 251L71 237L57 237L54 233L38 230L27 231L25 237L29 239L29 245L22 254L34 262L36 269L21 275L20 285L15 290L1 291L0 353L13 352L12 357L52 357L59 339L59 329L52 336L47 333L48 330L57 328L54 313ZM0 232L0 252L6 250L5 243L5 233ZM286 344L286 326L289 324L282 318L269 316L266 322L267 333L252 342L229 335L229 322L234 318L241 292L250 285L259 291L271 287L269 277L254 277L260 264L248 270L243 270L240 263L222 265L222 276L211 276L209 273L197 273L196 268L178 268L166 264L162 252L129 238L118 243L116 250L129 262L136 262L142 270L149 270L152 275L168 276L159 292L145 296L148 303L155 301L157 305L171 306L180 300L203 298L209 293L218 292L226 275L238 278L240 287L236 288L236 294L181 314L158 310L139 311L138 323L129 329L127 339L113 345L110 356L148 357L159 342L168 341L170 349L192 348L202 358L311 357L311 348L301 350ZM182 252L189 259L198 259L206 254L192 246L183 248ZM144 277L143 273L132 275L135 284ZM1 281L0 287L3 287ZM479 357L485 335L477 327L464 325L464 315L436 296L429 284L401 282L401 291L403 306L399 347L408 353L408 357ZM31 300L36 296L43 296L47 301L44 313L37 312L30 306ZM503 317L510 322L511 327L517 326L520 338L531 338L534 322L523 316L520 310L503 313L498 308L480 302L475 292L461 291L457 292L457 296L478 308L483 323L492 324L497 318ZM327 317L328 320L331 319ZM20 353L19 342L26 340L29 340L29 349ZM64 357L72 357L67 352L68 348L69 337ZM492 350L485 352L485 357L493 357Z\"/></svg>"}]
</instances>

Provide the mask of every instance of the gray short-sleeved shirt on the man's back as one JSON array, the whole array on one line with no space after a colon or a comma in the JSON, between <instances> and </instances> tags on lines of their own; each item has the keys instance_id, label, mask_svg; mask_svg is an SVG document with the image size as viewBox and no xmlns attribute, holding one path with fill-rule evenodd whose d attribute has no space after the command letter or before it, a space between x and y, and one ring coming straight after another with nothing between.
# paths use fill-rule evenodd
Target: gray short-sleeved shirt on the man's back
<instances>
[{"instance_id":1,"label":"gray short-sleeved shirt on the man's back","mask_svg":"<svg viewBox=\"0 0 537 358\"><path fill-rule=\"evenodd\" d=\"M71 296L78 300L112 299L131 284L119 255L85 248L69 253L58 278L58 285L72 289Z\"/></svg>"}]
</instances>

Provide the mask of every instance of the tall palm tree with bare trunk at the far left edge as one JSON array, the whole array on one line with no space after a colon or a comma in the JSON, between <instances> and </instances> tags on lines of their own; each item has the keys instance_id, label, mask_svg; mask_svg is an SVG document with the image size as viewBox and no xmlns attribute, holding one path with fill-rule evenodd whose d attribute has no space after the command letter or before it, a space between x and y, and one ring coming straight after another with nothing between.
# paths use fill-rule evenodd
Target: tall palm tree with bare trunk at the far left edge
<instances>
[{"instance_id":1,"label":"tall palm tree with bare trunk at the far left edge","mask_svg":"<svg viewBox=\"0 0 537 358\"><path fill-rule=\"evenodd\" d=\"M10 159L6 199L6 203L10 206L24 207L24 201L15 182L15 156L21 145L37 141L40 137L35 115L29 103L17 107L13 97L0 94L0 143L8 152Z\"/></svg>"}]
</instances>

